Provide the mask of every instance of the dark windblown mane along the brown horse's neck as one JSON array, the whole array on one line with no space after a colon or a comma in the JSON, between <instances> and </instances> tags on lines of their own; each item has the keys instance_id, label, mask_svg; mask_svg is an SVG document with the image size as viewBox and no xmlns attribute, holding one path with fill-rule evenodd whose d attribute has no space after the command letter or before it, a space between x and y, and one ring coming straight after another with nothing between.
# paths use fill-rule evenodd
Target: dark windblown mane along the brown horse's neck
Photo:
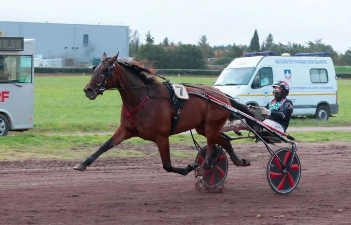
<instances>
[{"instance_id":1,"label":"dark windblown mane along the brown horse's neck","mask_svg":"<svg viewBox=\"0 0 351 225\"><path fill-rule=\"evenodd\" d=\"M156 70L152 67L145 67L141 62L125 62L117 61L118 64L132 71L133 75L137 75L146 84L158 83L158 77L155 76Z\"/></svg>"}]
</instances>

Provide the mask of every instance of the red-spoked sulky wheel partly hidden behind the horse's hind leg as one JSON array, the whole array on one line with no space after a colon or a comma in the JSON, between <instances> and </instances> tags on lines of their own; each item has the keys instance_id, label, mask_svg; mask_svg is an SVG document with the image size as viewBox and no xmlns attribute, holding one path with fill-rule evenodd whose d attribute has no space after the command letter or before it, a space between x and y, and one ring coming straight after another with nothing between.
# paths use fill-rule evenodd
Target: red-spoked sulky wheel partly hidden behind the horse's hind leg
<instances>
[{"instance_id":1,"label":"red-spoked sulky wheel partly hidden behind the horse's hind leg","mask_svg":"<svg viewBox=\"0 0 351 225\"><path fill-rule=\"evenodd\" d=\"M201 165L206 156L207 146L203 147L195 158L195 163ZM228 173L228 159L222 148L215 146L214 149L215 158L212 160L212 164L205 171L203 181L206 188L217 188L226 179Z\"/></svg>"}]
</instances>

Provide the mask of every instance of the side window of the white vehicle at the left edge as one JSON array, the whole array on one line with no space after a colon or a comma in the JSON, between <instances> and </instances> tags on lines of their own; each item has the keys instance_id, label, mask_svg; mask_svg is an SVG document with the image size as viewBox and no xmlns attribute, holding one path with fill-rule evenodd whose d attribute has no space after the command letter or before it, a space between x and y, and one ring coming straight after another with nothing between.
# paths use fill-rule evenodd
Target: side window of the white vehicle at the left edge
<instances>
[{"instance_id":1,"label":"side window of the white vehicle at the left edge","mask_svg":"<svg viewBox=\"0 0 351 225\"><path fill-rule=\"evenodd\" d=\"M32 56L30 55L0 55L2 69L0 82L2 83L31 83Z\"/></svg>"}]
</instances>

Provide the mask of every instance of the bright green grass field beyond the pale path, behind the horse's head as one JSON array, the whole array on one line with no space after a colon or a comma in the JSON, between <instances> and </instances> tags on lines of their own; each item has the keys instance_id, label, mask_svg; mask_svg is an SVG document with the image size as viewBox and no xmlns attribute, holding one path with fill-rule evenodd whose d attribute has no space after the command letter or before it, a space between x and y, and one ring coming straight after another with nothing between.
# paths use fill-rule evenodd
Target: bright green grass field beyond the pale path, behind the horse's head
<instances>
[{"instance_id":1,"label":"bright green grass field beyond the pale path, behind the horse's head","mask_svg":"<svg viewBox=\"0 0 351 225\"><path fill-rule=\"evenodd\" d=\"M171 77L173 82L211 85L214 77ZM89 77L36 77L34 129L30 132L104 132L119 125L121 98L118 91L106 91L96 100L88 100L83 87ZM351 80L338 80L340 109L329 121L293 119L290 126L351 125Z\"/></svg>"}]
</instances>

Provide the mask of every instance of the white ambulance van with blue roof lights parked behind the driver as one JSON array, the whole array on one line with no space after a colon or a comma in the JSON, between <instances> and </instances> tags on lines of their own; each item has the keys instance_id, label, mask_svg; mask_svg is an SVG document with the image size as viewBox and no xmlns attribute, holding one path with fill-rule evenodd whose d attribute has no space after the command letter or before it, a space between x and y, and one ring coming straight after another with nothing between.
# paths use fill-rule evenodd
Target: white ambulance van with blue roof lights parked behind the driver
<instances>
[{"instance_id":1,"label":"white ambulance van with blue roof lights parked behind the driver","mask_svg":"<svg viewBox=\"0 0 351 225\"><path fill-rule=\"evenodd\" d=\"M293 116L327 120L338 112L337 77L328 52L274 55L254 52L234 59L213 86L242 103L265 106L273 99L271 85L281 80L290 86Z\"/></svg>"}]
</instances>

